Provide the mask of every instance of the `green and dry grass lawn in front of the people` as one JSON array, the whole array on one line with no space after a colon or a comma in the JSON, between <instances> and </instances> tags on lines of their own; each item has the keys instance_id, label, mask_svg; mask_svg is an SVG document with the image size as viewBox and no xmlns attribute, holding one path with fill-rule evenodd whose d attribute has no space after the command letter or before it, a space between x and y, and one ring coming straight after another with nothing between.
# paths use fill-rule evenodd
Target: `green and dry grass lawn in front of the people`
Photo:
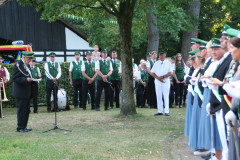
<instances>
[{"instance_id":1,"label":"green and dry grass lawn in front of the people","mask_svg":"<svg viewBox=\"0 0 240 160\"><path fill-rule=\"evenodd\" d=\"M170 109L170 117L154 117L156 109L137 109L137 115L122 117L120 110L100 112L72 109L57 113L58 126L72 130L54 130L54 113L40 107L30 114L29 133L16 132L16 108L4 108L0 119L0 160L59 159L171 159L166 153L169 137L183 134L185 108ZM31 108L32 109L32 108ZM174 151L173 151L174 152Z\"/></svg>"}]
</instances>

